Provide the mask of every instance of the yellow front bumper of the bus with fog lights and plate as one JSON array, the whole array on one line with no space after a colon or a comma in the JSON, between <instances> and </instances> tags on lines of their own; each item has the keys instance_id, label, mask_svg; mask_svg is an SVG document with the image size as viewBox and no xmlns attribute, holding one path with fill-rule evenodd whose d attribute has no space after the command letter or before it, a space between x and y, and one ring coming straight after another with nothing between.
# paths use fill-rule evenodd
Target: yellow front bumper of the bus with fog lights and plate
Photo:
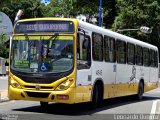
<instances>
[{"instance_id":1,"label":"yellow front bumper of the bus with fog lights and plate","mask_svg":"<svg viewBox=\"0 0 160 120\"><path fill-rule=\"evenodd\" d=\"M13 88L10 85L8 89L8 97L10 100L30 100L73 104L75 103L74 91L75 88L68 88L64 91L26 90Z\"/></svg>"}]
</instances>

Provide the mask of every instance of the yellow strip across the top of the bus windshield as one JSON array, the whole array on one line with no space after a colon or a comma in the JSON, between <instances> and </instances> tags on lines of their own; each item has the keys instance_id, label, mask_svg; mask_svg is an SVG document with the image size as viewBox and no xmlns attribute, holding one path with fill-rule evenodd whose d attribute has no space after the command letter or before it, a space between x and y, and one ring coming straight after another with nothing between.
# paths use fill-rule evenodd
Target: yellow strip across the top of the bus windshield
<instances>
[{"instance_id":1,"label":"yellow strip across the top of the bus windshield","mask_svg":"<svg viewBox=\"0 0 160 120\"><path fill-rule=\"evenodd\" d=\"M28 36L29 40L48 40L51 36ZM73 40L73 36L57 36L57 40ZM14 36L13 40L28 40L25 36ZM54 40L54 37L51 39Z\"/></svg>"}]
</instances>

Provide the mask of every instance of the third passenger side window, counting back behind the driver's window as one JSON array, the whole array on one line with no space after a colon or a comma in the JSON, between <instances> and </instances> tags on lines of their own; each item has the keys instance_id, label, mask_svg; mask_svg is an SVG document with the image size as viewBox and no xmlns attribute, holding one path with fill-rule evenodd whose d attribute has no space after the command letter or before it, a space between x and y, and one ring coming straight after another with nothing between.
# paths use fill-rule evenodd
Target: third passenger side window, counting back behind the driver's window
<instances>
[{"instance_id":1,"label":"third passenger side window, counting back behind the driver's window","mask_svg":"<svg viewBox=\"0 0 160 120\"><path fill-rule=\"evenodd\" d=\"M123 41L117 41L117 62L118 63L126 63L126 43Z\"/></svg>"}]
</instances>

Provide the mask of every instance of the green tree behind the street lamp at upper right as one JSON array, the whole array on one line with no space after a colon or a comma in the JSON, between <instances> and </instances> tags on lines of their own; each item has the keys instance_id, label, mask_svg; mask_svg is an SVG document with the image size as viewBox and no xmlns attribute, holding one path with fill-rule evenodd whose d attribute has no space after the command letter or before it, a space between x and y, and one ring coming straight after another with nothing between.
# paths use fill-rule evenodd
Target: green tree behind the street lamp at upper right
<instances>
[{"instance_id":1,"label":"green tree behind the street lamp at upper right","mask_svg":"<svg viewBox=\"0 0 160 120\"><path fill-rule=\"evenodd\" d=\"M118 16L113 24L114 31L148 26L153 29L151 34L145 34L140 31L127 31L123 32L123 34L157 45L160 40L156 27L160 22L160 1L117 0L117 8Z\"/></svg>"}]
</instances>

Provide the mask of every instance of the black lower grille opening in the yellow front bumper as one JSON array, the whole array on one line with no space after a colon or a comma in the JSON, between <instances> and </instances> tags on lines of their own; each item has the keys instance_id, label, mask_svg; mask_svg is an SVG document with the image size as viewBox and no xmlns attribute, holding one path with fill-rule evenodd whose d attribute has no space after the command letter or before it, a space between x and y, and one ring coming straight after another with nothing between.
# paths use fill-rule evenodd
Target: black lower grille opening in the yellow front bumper
<instances>
[{"instance_id":1,"label":"black lower grille opening in the yellow front bumper","mask_svg":"<svg viewBox=\"0 0 160 120\"><path fill-rule=\"evenodd\" d=\"M47 98L50 93L26 92L29 97Z\"/></svg>"}]
</instances>

